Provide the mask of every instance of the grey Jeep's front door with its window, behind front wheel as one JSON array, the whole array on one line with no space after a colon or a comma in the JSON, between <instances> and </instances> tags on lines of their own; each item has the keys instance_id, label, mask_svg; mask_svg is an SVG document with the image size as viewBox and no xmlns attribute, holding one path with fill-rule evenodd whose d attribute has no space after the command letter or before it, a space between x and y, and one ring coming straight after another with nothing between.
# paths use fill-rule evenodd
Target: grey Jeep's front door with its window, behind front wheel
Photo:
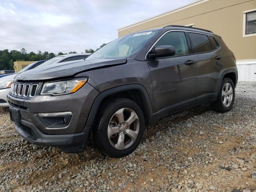
<instances>
[{"instance_id":1,"label":"grey Jeep's front door with its window, behind front wheel","mask_svg":"<svg viewBox=\"0 0 256 192\"><path fill-rule=\"evenodd\" d=\"M197 66L192 63L195 58L186 33L168 32L156 42L154 48L163 45L174 46L176 54L147 61L152 77L154 110L161 110L162 113L194 104L197 81Z\"/></svg>"}]
</instances>

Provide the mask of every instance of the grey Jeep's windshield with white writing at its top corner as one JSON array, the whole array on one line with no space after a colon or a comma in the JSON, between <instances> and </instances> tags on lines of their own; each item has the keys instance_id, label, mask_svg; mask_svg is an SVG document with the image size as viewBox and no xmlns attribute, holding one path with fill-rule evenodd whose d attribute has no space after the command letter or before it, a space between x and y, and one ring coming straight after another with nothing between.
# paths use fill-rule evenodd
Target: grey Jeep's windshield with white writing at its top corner
<instances>
[{"instance_id":1,"label":"grey Jeep's windshield with white writing at its top corner","mask_svg":"<svg viewBox=\"0 0 256 192\"><path fill-rule=\"evenodd\" d=\"M123 37L120 37L90 56L88 59L91 58L116 58L116 57L129 57L132 54L138 52L148 40L154 36L155 31L148 31L148 32L140 32L136 34L130 34Z\"/></svg>"}]
</instances>

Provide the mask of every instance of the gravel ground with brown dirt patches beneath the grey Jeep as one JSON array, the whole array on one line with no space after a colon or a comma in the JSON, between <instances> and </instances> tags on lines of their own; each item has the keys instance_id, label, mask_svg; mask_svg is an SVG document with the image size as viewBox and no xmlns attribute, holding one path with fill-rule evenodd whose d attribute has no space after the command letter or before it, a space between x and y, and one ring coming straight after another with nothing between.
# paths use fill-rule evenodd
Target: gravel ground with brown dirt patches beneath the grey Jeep
<instances>
[{"instance_id":1,"label":"gravel ground with brown dirt patches beneath the grey Jeep","mask_svg":"<svg viewBox=\"0 0 256 192\"><path fill-rule=\"evenodd\" d=\"M234 108L201 105L148 126L130 156L109 158L30 144L0 111L0 191L256 191L256 83L240 82Z\"/></svg>"}]
</instances>

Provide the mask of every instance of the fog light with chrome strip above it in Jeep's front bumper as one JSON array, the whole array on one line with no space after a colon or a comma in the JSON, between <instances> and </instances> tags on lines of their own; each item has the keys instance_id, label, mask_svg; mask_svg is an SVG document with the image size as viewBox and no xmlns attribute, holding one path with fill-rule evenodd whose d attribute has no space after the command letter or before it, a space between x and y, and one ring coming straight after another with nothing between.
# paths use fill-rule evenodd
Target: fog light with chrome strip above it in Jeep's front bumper
<instances>
[{"instance_id":1,"label":"fog light with chrome strip above it in Jeep's front bumper","mask_svg":"<svg viewBox=\"0 0 256 192\"><path fill-rule=\"evenodd\" d=\"M72 112L38 113L38 116L49 128L65 127L70 122Z\"/></svg>"}]
</instances>

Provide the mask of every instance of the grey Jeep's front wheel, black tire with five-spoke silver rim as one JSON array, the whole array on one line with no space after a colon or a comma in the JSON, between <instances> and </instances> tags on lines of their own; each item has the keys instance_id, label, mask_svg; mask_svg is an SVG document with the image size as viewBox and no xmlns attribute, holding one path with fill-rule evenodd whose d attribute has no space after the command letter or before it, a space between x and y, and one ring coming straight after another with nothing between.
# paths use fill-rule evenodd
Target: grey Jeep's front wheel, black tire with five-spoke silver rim
<instances>
[{"instance_id":1,"label":"grey Jeep's front wheel, black tire with five-spoke silver rim","mask_svg":"<svg viewBox=\"0 0 256 192\"><path fill-rule=\"evenodd\" d=\"M138 104L130 99L115 98L99 111L92 131L94 146L115 158L131 154L140 144L145 129Z\"/></svg>"}]
</instances>

